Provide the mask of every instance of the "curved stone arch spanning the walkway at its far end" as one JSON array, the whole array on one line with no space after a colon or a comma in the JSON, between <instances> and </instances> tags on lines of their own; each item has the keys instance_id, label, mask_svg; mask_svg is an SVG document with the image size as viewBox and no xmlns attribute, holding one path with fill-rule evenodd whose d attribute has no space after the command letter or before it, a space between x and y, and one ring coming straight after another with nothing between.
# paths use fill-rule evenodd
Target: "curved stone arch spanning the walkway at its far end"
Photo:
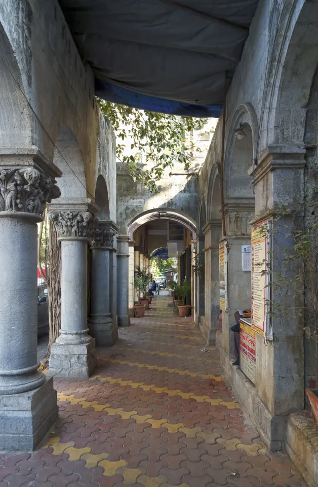
<instances>
[{"instance_id":1,"label":"curved stone arch spanning the walkway at its far end","mask_svg":"<svg viewBox=\"0 0 318 487\"><path fill-rule=\"evenodd\" d=\"M170 220L179 223L180 225L183 225L185 228L190 230L192 239L195 238L196 223L191 217L183 212L172 210L171 208L155 208L154 210L148 210L146 212L140 213L130 221L128 225L130 239L133 239L134 232L140 226L153 220Z\"/></svg>"}]
</instances>

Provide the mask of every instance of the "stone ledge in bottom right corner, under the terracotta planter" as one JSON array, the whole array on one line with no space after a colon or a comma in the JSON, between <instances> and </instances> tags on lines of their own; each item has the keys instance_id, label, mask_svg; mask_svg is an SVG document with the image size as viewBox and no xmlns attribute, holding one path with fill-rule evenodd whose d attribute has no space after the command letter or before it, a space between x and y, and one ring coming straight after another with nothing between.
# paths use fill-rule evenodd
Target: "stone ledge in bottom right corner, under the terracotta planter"
<instances>
[{"instance_id":1,"label":"stone ledge in bottom right corner, under the terracotta planter","mask_svg":"<svg viewBox=\"0 0 318 487\"><path fill-rule=\"evenodd\" d=\"M318 426L307 411L289 415L286 450L308 486L316 487L318 485Z\"/></svg>"}]
</instances>

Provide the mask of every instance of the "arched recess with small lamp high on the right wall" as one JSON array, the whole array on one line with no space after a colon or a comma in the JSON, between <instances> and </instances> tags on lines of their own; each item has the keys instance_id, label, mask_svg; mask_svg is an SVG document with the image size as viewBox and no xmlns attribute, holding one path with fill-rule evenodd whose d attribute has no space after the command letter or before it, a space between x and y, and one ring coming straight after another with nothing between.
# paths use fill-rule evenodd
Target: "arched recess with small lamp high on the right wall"
<instances>
[{"instance_id":1,"label":"arched recess with small lamp high on the right wall","mask_svg":"<svg viewBox=\"0 0 318 487\"><path fill-rule=\"evenodd\" d=\"M257 150L258 121L251 103L240 105L228 131L224 157L224 197L228 200L254 199L248 170Z\"/></svg>"}]
</instances>

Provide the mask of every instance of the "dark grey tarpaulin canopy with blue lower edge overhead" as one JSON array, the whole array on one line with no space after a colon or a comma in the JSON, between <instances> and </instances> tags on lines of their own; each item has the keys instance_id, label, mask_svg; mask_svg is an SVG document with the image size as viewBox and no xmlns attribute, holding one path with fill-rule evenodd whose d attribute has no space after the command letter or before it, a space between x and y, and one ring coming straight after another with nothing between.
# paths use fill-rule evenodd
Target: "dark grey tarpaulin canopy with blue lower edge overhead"
<instances>
[{"instance_id":1,"label":"dark grey tarpaulin canopy with blue lower edge overhead","mask_svg":"<svg viewBox=\"0 0 318 487\"><path fill-rule=\"evenodd\" d=\"M194 116L219 115L257 3L60 0L100 97Z\"/></svg>"}]
</instances>

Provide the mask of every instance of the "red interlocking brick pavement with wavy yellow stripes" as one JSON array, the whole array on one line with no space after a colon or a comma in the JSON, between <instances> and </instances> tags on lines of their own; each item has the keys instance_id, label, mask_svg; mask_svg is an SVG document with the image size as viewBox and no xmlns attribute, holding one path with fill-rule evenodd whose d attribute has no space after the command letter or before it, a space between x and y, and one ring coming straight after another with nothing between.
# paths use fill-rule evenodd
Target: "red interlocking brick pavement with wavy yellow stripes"
<instances>
[{"instance_id":1,"label":"red interlocking brick pavement with wavy yellow stripes","mask_svg":"<svg viewBox=\"0 0 318 487\"><path fill-rule=\"evenodd\" d=\"M0 455L0 487L305 487L269 453L190 318L154 298L87 380L56 379L60 421L32 454ZM206 352L202 350L206 349Z\"/></svg>"}]
</instances>

